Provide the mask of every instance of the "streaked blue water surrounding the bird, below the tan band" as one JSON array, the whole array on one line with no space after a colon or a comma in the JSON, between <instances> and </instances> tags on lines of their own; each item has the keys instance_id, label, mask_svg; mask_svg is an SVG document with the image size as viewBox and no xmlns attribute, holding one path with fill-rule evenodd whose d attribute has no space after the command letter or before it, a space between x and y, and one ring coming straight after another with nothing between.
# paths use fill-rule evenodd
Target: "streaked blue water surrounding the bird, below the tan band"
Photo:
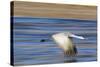
<instances>
[{"instance_id":1,"label":"streaked blue water surrounding the bird, below the tan band","mask_svg":"<svg viewBox=\"0 0 100 67\"><path fill-rule=\"evenodd\" d=\"M49 64L87 62L97 60L97 21L60 18L14 17L14 64ZM63 51L52 40L51 35L71 32L85 37L73 38L78 55L64 57ZM46 42L41 42L45 39Z\"/></svg>"}]
</instances>

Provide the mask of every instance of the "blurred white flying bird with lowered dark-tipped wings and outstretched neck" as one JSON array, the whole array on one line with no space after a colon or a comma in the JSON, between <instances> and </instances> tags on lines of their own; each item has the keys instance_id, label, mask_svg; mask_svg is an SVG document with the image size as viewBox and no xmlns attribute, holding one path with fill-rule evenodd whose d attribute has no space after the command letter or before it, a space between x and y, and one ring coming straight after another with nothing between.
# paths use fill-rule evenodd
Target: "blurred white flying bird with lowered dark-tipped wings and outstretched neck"
<instances>
[{"instance_id":1,"label":"blurred white flying bird with lowered dark-tipped wings and outstretched neck","mask_svg":"<svg viewBox=\"0 0 100 67\"><path fill-rule=\"evenodd\" d=\"M64 55L75 56L77 54L77 48L73 44L72 37L84 39L71 33L57 33L52 36L56 44L64 51Z\"/></svg>"}]
</instances>

